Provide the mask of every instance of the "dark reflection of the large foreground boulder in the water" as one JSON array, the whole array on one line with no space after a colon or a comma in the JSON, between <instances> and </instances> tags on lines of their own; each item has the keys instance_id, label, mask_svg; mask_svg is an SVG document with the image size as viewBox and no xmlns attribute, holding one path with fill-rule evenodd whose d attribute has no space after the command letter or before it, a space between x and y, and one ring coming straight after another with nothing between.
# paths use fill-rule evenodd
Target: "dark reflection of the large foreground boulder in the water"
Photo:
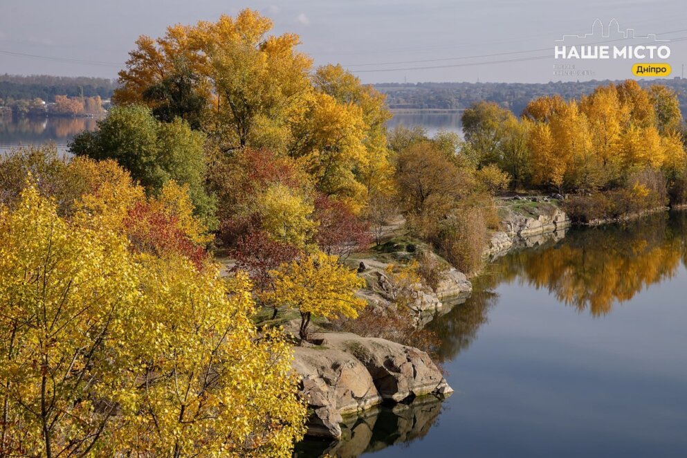
<instances>
[{"instance_id":1,"label":"dark reflection of the large foreground boulder in the water","mask_svg":"<svg viewBox=\"0 0 687 458\"><path fill-rule=\"evenodd\" d=\"M333 442L304 441L296 457L354 458L397 443L424 437L441 412L441 401L423 396L410 404L380 405L359 415L345 416L342 437Z\"/></svg>"}]
</instances>

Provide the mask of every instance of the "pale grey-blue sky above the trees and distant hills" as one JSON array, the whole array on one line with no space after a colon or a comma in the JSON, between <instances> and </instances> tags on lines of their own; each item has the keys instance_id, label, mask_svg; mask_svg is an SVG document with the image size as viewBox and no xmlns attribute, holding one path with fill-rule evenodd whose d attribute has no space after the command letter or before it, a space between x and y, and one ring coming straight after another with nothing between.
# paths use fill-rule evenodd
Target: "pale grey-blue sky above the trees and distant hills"
<instances>
[{"instance_id":1,"label":"pale grey-blue sky above the trees and distant hills","mask_svg":"<svg viewBox=\"0 0 687 458\"><path fill-rule=\"evenodd\" d=\"M684 0L0 0L0 73L116 77L138 35L252 8L300 35L316 65L363 82L549 82L632 77L630 60L553 68L562 35L595 19L668 42L687 64ZM554 73L556 71L557 73ZM560 73L563 71L564 73Z\"/></svg>"}]
</instances>

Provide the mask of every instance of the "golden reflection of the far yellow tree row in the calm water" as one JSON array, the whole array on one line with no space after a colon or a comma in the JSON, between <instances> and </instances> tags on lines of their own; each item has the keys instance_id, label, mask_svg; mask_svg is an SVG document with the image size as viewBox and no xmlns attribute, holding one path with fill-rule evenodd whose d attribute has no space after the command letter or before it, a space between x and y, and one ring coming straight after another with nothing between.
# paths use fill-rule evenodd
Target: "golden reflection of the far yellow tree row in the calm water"
<instances>
[{"instance_id":1,"label":"golden reflection of the far yellow tree row in the calm water","mask_svg":"<svg viewBox=\"0 0 687 458\"><path fill-rule=\"evenodd\" d=\"M493 266L495 283L546 288L558 302L606 315L685 262L686 215L654 214L623 226L571 230L552 247L522 250Z\"/></svg>"}]
</instances>

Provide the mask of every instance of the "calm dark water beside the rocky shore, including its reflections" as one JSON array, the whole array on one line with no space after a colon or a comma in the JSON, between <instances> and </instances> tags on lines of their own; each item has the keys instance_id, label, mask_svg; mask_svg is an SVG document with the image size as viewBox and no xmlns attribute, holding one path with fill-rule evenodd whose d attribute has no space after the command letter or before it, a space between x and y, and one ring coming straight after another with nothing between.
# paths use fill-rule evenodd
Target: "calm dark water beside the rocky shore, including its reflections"
<instances>
[{"instance_id":1,"label":"calm dark water beside the rocky shore, including its reflections","mask_svg":"<svg viewBox=\"0 0 687 458\"><path fill-rule=\"evenodd\" d=\"M685 457L686 264L687 212L506 255L430 324L455 394L302 456Z\"/></svg>"}]
</instances>

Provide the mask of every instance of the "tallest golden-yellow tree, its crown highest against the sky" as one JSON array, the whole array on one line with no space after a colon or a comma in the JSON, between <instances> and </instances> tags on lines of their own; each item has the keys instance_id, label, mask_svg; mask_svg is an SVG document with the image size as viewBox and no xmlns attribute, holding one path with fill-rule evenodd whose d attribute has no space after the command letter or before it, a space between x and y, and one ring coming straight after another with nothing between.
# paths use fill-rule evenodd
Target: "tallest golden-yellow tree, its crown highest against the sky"
<instances>
[{"instance_id":1,"label":"tallest golden-yellow tree, its crown highest against the sky","mask_svg":"<svg viewBox=\"0 0 687 458\"><path fill-rule=\"evenodd\" d=\"M283 151L288 123L304 112L312 91L311 59L295 51L297 35L267 36L271 28L266 17L243 10L235 19L222 16L196 30L217 93L210 129L224 149L250 145Z\"/></svg>"}]
</instances>

